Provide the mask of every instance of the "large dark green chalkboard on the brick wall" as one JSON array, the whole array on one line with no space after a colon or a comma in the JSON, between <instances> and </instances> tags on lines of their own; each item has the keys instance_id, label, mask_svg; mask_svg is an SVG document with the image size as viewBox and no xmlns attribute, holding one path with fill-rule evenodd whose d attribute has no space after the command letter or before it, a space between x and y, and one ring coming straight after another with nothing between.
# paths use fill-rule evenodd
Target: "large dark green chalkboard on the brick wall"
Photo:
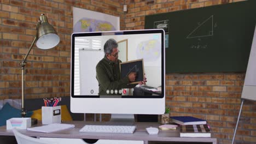
<instances>
[{"instance_id":1,"label":"large dark green chalkboard on the brick wall","mask_svg":"<svg viewBox=\"0 0 256 144\"><path fill-rule=\"evenodd\" d=\"M148 15L145 29L166 32L166 73L246 71L255 0Z\"/></svg>"}]
</instances>

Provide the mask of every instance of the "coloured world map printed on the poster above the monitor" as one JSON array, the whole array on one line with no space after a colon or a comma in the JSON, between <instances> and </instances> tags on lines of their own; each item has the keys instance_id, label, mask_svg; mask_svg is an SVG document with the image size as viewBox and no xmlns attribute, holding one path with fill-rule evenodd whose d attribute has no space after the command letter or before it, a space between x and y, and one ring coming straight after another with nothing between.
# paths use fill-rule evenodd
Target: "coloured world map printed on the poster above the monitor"
<instances>
[{"instance_id":1,"label":"coloured world map printed on the poster above the monitor","mask_svg":"<svg viewBox=\"0 0 256 144\"><path fill-rule=\"evenodd\" d=\"M89 19L85 17L78 20L73 27L74 33L101 31L115 31L115 27L108 21Z\"/></svg>"}]
</instances>

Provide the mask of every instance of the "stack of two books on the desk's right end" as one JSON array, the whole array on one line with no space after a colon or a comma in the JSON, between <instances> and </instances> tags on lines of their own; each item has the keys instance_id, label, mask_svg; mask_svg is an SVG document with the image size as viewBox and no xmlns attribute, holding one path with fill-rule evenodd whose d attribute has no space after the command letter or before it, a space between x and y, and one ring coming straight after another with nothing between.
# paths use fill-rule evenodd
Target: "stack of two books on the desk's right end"
<instances>
[{"instance_id":1,"label":"stack of two books on the desk's right end","mask_svg":"<svg viewBox=\"0 0 256 144\"><path fill-rule=\"evenodd\" d=\"M170 117L171 121L180 124L181 137L211 137L210 128L204 119L191 116Z\"/></svg>"}]
</instances>

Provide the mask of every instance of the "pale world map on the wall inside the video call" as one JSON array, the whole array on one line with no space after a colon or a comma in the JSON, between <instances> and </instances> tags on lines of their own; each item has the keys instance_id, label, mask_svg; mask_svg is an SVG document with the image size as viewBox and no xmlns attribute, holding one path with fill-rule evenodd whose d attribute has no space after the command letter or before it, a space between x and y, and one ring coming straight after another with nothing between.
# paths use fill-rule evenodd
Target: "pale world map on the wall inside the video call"
<instances>
[{"instance_id":1,"label":"pale world map on the wall inside the video call","mask_svg":"<svg viewBox=\"0 0 256 144\"><path fill-rule=\"evenodd\" d=\"M156 39L142 41L137 45L136 55L148 62L155 61L161 55L161 44Z\"/></svg>"}]
</instances>

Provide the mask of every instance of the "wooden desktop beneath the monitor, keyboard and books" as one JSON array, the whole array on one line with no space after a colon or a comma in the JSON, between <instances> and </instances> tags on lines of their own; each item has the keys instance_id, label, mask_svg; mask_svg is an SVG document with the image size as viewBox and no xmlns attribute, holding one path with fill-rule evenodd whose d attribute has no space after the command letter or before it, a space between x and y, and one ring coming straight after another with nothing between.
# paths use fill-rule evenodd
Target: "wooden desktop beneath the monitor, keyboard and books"
<instances>
[{"instance_id":1,"label":"wooden desktop beneath the monitor, keyboard and books","mask_svg":"<svg viewBox=\"0 0 256 144\"><path fill-rule=\"evenodd\" d=\"M65 123L65 122L64 122ZM19 130L22 134L34 137L59 137L69 139L102 139L102 140L138 140L144 141L144 144L148 143L176 143L176 142L206 142L217 144L217 139L212 137L179 137L178 130L159 130L158 135L149 135L146 131L147 127L158 127L159 123L135 123L137 129L133 134L102 134L102 133L79 133L79 130L84 127L85 124L97 124L97 122L83 122L74 121L68 122L69 124L75 124L75 128L56 131L54 133L39 133L34 131ZM38 124L36 126L40 126ZM0 127L0 135L14 135L12 130L6 130L6 127Z\"/></svg>"}]
</instances>

